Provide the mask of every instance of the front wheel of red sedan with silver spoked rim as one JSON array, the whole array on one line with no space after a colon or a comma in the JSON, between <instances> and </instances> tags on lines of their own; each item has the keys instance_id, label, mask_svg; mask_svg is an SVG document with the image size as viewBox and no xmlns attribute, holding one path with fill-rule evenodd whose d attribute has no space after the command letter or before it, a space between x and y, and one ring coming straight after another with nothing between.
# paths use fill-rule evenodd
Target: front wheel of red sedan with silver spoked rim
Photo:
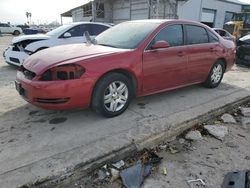
<instances>
[{"instance_id":1,"label":"front wheel of red sedan with silver spoked rim","mask_svg":"<svg viewBox=\"0 0 250 188\"><path fill-rule=\"evenodd\" d=\"M133 96L132 88L130 79L123 74L106 75L96 84L92 97L92 109L105 117L122 114Z\"/></svg>"}]
</instances>

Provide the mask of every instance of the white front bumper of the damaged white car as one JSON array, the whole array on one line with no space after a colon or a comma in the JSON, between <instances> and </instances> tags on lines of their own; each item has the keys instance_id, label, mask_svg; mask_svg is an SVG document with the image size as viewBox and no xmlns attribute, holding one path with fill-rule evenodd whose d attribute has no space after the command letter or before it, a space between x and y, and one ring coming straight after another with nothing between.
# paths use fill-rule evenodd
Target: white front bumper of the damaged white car
<instances>
[{"instance_id":1,"label":"white front bumper of the damaged white car","mask_svg":"<svg viewBox=\"0 0 250 188\"><path fill-rule=\"evenodd\" d=\"M24 51L14 51L14 46L9 46L3 52L3 57L6 63L21 66L26 58L29 57L29 54Z\"/></svg>"}]
</instances>

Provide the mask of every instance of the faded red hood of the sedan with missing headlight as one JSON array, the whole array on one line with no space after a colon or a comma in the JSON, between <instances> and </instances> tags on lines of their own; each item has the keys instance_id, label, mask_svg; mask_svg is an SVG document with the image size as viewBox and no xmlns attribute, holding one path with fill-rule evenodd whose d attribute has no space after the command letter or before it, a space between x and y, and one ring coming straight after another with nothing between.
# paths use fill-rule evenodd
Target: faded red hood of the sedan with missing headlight
<instances>
[{"instance_id":1,"label":"faded red hood of the sedan with missing headlight","mask_svg":"<svg viewBox=\"0 0 250 188\"><path fill-rule=\"evenodd\" d=\"M33 54L24 61L23 66L36 74L40 74L49 67L57 64L82 61L126 51L130 50L88 44L62 45L41 50Z\"/></svg>"}]
</instances>

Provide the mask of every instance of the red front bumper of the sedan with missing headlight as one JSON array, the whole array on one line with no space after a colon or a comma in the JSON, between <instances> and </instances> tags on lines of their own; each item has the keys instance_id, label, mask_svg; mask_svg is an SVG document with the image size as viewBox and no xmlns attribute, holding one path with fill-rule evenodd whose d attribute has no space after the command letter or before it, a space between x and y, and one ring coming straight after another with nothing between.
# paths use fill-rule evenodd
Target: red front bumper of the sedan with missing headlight
<instances>
[{"instance_id":1,"label":"red front bumper of the sedan with missing headlight","mask_svg":"<svg viewBox=\"0 0 250 188\"><path fill-rule=\"evenodd\" d=\"M88 79L33 81L17 72L16 89L27 102L50 110L87 108L93 83Z\"/></svg>"}]
</instances>

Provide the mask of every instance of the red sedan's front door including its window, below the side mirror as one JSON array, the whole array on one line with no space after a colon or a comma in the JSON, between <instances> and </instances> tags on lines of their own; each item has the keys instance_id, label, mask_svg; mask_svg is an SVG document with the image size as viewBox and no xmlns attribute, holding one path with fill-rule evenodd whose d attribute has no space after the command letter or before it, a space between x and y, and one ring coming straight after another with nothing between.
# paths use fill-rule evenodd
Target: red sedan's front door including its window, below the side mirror
<instances>
[{"instance_id":1,"label":"red sedan's front door including its window, below the side mirror","mask_svg":"<svg viewBox=\"0 0 250 188\"><path fill-rule=\"evenodd\" d=\"M168 48L152 49L157 41ZM154 93L187 84L187 48L181 24L163 28L143 53L143 92Z\"/></svg>"}]
</instances>

